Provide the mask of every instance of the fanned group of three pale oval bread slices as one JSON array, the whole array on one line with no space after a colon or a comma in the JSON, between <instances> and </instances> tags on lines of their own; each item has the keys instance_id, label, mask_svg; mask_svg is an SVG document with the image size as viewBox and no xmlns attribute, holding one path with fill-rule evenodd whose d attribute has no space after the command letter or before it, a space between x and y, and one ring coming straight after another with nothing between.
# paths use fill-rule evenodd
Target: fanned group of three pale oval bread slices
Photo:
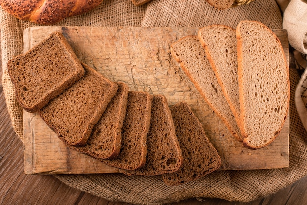
<instances>
[{"instance_id":1,"label":"fanned group of three pale oval bread slices","mask_svg":"<svg viewBox=\"0 0 307 205\"><path fill-rule=\"evenodd\" d=\"M288 115L289 68L265 25L211 25L171 45L171 54L233 136L250 149L268 146Z\"/></svg>"}]
</instances>

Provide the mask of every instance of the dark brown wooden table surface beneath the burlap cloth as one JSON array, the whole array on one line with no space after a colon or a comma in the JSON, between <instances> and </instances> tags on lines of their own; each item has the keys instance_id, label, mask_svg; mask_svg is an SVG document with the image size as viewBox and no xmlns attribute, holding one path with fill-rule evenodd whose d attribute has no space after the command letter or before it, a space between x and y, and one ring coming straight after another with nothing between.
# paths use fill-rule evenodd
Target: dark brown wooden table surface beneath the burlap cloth
<instances>
[{"instance_id":1,"label":"dark brown wooden table surface beneath the burlap cloth","mask_svg":"<svg viewBox=\"0 0 307 205\"><path fill-rule=\"evenodd\" d=\"M1 63L0 63L1 65ZM2 68L0 68L0 77ZM249 203L220 199L184 200L171 205L306 205L307 177L276 194ZM71 188L52 175L25 175L23 144L12 128L0 82L0 205L129 205Z\"/></svg>"}]
</instances>

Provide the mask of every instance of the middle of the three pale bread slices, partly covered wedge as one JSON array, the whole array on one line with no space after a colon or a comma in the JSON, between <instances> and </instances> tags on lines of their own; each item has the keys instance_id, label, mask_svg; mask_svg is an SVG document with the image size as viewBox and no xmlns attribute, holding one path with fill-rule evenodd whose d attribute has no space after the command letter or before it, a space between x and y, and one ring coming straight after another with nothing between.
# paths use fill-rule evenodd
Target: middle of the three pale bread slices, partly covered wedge
<instances>
[{"instance_id":1,"label":"middle of the three pale bread slices, partly covered wedge","mask_svg":"<svg viewBox=\"0 0 307 205\"><path fill-rule=\"evenodd\" d=\"M199 29L198 38L238 122L240 102L235 29L225 25L211 25Z\"/></svg>"}]
</instances>

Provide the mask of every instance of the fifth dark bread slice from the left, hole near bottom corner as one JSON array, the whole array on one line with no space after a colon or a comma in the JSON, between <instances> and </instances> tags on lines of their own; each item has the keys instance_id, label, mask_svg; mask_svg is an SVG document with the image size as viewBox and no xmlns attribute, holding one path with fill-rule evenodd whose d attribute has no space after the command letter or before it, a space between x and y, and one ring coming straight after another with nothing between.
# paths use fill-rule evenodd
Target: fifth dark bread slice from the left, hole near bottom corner
<instances>
[{"instance_id":1,"label":"fifth dark bread slice from the left, hole near bottom corner","mask_svg":"<svg viewBox=\"0 0 307 205\"><path fill-rule=\"evenodd\" d=\"M153 95L151 112L146 164L140 169L124 170L125 175L161 175L177 171L182 164L172 114L163 95Z\"/></svg>"}]
</instances>

